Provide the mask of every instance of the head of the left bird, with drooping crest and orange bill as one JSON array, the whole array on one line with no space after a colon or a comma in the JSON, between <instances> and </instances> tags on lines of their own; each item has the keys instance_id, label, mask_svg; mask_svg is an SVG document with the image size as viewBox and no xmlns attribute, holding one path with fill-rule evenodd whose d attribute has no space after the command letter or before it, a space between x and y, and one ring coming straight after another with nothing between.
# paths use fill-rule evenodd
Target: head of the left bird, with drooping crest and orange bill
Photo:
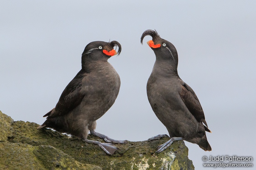
<instances>
[{"instance_id":1,"label":"head of the left bird, with drooping crest and orange bill","mask_svg":"<svg viewBox=\"0 0 256 170\"><path fill-rule=\"evenodd\" d=\"M114 50L118 47L118 51ZM121 45L117 41L104 42L93 41L89 43L82 54L82 60L108 60L113 55L119 55L122 50Z\"/></svg>"}]
</instances>

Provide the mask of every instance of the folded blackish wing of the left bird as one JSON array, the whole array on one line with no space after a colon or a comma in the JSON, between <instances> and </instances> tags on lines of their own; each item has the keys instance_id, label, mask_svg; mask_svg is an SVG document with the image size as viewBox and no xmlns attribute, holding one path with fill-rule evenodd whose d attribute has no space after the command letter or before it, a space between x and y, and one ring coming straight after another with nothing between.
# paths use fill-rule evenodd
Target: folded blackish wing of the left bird
<instances>
[{"instance_id":1,"label":"folded blackish wing of the left bird","mask_svg":"<svg viewBox=\"0 0 256 170\"><path fill-rule=\"evenodd\" d=\"M62 92L56 107L49 111L43 117L56 117L60 115L65 115L72 111L76 106L78 106L83 98L85 93L81 92L82 79L88 74L82 74L81 71L77 73L74 79L67 85L67 87Z\"/></svg>"}]
</instances>

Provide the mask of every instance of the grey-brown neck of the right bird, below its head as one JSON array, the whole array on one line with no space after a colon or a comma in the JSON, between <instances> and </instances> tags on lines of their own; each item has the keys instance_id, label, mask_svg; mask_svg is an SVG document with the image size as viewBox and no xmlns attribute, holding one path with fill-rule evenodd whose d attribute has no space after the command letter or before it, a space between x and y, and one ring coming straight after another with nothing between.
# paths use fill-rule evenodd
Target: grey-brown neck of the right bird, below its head
<instances>
[{"instance_id":1,"label":"grey-brown neck of the right bird, below its head","mask_svg":"<svg viewBox=\"0 0 256 170\"><path fill-rule=\"evenodd\" d=\"M157 73L157 75L163 76L174 76L179 77L177 71L177 65L170 60L157 60L154 64L152 72Z\"/></svg>"}]
</instances>

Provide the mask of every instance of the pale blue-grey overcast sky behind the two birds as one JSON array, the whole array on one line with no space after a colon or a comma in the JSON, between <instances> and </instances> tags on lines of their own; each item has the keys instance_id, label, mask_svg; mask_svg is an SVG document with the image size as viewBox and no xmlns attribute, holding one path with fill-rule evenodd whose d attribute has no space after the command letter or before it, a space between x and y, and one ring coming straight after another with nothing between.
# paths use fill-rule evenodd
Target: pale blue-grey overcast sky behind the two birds
<instances>
[{"instance_id":1,"label":"pale blue-grey overcast sky behind the two birds","mask_svg":"<svg viewBox=\"0 0 256 170\"><path fill-rule=\"evenodd\" d=\"M0 4L0 110L15 121L42 124L80 71L85 46L117 40L122 52L109 62L121 88L96 132L130 141L168 134L146 95L155 62L146 42L152 38L140 44L145 30L156 29L176 47L178 73L196 92L212 131L207 133L211 152L185 142L195 168L202 169L203 156L256 158L256 1Z\"/></svg>"}]
</instances>

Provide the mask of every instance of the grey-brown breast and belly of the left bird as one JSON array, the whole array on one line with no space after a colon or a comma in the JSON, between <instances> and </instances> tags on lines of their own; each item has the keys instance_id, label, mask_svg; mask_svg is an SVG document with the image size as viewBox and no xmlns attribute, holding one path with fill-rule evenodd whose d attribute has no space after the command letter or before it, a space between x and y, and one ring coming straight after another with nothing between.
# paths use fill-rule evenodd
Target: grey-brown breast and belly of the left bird
<instances>
[{"instance_id":1,"label":"grey-brown breast and belly of the left bird","mask_svg":"<svg viewBox=\"0 0 256 170\"><path fill-rule=\"evenodd\" d=\"M114 104L120 88L120 78L114 69L90 72L82 81L81 93L85 94L78 107L81 120L93 122Z\"/></svg>"}]
</instances>

